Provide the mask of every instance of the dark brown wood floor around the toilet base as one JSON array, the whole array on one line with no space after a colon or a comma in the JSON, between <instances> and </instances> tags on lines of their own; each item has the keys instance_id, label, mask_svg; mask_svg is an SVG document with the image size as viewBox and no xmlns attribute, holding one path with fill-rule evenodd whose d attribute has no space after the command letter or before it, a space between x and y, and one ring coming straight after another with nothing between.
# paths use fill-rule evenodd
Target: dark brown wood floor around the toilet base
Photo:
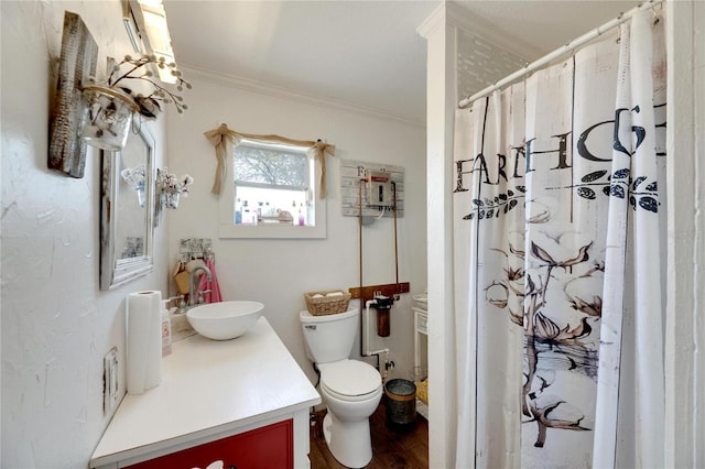
<instances>
[{"instance_id":1,"label":"dark brown wood floor around the toilet base","mask_svg":"<svg viewBox=\"0 0 705 469\"><path fill-rule=\"evenodd\" d=\"M323 437L322 423L326 412L316 413L311 427L312 469L343 469L335 460ZM429 467L429 423L420 415L412 428L397 430L387 425L384 399L370 417L372 460L368 469L425 469Z\"/></svg>"}]
</instances>

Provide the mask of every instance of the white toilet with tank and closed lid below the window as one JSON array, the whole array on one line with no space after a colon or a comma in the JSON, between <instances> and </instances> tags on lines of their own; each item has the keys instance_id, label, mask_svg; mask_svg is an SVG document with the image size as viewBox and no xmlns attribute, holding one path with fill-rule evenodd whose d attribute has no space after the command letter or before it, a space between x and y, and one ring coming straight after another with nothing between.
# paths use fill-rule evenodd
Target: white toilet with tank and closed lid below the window
<instances>
[{"instance_id":1,"label":"white toilet with tank and closed lid below the window","mask_svg":"<svg viewBox=\"0 0 705 469\"><path fill-rule=\"evenodd\" d=\"M382 399L382 378L371 364L350 360L360 313L299 314L308 358L321 371L319 392L328 412L326 444L344 466L361 468L372 459L369 417Z\"/></svg>"}]
</instances>

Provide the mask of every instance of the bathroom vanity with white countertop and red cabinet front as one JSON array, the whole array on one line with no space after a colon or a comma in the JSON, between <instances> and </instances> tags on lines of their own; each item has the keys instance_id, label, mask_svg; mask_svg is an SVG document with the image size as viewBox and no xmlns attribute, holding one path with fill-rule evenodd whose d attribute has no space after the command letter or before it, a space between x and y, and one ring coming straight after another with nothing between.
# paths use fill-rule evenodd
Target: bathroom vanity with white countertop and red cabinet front
<instances>
[{"instance_id":1,"label":"bathroom vanity with white countertop and red cabinet front","mask_svg":"<svg viewBox=\"0 0 705 469\"><path fill-rule=\"evenodd\" d=\"M173 343L162 383L128 394L90 468L308 468L308 410L321 396L264 317L225 341Z\"/></svg>"}]
</instances>

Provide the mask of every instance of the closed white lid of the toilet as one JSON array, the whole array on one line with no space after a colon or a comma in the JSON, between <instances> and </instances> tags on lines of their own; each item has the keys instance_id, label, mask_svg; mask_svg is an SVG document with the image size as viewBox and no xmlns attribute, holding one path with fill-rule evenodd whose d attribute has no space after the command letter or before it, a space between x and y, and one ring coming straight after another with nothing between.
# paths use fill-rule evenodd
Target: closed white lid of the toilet
<instances>
[{"instance_id":1,"label":"closed white lid of the toilet","mask_svg":"<svg viewBox=\"0 0 705 469\"><path fill-rule=\"evenodd\" d=\"M321 382L337 394L355 396L375 392L382 384L382 378L371 364L343 360L322 364Z\"/></svg>"}]
</instances>

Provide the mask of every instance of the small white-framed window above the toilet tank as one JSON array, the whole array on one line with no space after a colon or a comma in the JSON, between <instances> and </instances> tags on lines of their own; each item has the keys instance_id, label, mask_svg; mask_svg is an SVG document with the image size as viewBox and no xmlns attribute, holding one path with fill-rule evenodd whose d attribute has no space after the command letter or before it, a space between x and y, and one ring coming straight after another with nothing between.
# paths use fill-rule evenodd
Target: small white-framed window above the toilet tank
<instances>
[{"instance_id":1,"label":"small white-framed window above the toilet tank","mask_svg":"<svg viewBox=\"0 0 705 469\"><path fill-rule=\"evenodd\" d=\"M317 167L307 151L242 140L228 165L231 190L221 194L220 237L325 238L325 204L315 197Z\"/></svg>"}]
</instances>

